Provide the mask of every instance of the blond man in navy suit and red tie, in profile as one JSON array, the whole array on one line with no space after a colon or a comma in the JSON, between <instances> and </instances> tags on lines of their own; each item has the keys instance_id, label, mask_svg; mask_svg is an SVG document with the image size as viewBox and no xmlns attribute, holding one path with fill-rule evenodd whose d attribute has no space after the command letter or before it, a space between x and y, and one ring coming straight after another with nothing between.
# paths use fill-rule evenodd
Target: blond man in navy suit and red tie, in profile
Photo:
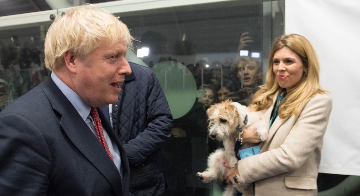
<instances>
[{"instance_id":1,"label":"blond man in navy suit and red tie, in profile","mask_svg":"<svg viewBox=\"0 0 360 196\"><path fill-rule=\"evenodd\" d=\"M131 73L133 38L104 9L83 5L45 38L51 76L0 113L1 195L129 195L129 163L99 107Z\"/></svg>"}]
</instances>

